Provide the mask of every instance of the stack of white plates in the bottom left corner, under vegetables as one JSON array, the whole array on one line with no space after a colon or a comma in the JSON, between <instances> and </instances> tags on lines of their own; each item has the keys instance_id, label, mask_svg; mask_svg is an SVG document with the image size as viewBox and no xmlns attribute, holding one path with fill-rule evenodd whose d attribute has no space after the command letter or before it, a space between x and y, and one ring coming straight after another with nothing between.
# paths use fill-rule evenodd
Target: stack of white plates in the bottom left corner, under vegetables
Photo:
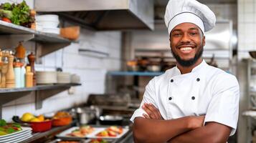
<instances>
[{"instance_id":1,"label":"stack of white plates in the bottom left corner, under vegetables","mask_svg":"<svg viewBox=\"0 0 256 143\"><path fill-rule=\"evenodd\" d=\"M32 129L30 127L22 127L19 132L0 136L0 143L22 142L30 137L32 137Z\"/></svg>"}]
</instances>

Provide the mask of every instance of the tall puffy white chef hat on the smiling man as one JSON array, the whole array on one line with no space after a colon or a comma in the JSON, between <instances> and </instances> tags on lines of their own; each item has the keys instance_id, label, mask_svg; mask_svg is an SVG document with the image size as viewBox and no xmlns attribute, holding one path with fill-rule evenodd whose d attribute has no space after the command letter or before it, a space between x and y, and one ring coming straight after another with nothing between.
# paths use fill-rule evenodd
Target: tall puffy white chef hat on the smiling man
<instances>
[{"instance_id":1,"label":"tall puffy white chef hat on the smiling man","mask_svg":"<svg viewBox=\"0 0 256 143\"><path fill-rule=\"evenodd\" d=\"M169 0L164 21L169 34L175 26L185 22L196 24L204 33L214 28L216 16L208 6L196 0Z\"/></svg>"}]
</instances>

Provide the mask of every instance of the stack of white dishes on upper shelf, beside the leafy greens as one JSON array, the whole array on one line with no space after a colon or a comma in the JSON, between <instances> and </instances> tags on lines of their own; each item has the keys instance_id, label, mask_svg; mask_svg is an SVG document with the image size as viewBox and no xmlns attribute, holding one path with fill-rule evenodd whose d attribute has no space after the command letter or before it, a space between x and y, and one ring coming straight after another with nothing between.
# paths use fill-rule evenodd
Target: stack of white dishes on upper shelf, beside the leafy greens
<instances>
[{"instance_id":1,"label":"stack of white dishes on upper shelf, beside the leafy greens","mask_svg":"<svg viewBox=\"0 0 256 143\"><path fill-rule=\"evenodd\" d=\"M59 16L55 14L44 14L36 16L36 27L38 31L46 33L60 34Z\"/></svg>"}]
</instances>

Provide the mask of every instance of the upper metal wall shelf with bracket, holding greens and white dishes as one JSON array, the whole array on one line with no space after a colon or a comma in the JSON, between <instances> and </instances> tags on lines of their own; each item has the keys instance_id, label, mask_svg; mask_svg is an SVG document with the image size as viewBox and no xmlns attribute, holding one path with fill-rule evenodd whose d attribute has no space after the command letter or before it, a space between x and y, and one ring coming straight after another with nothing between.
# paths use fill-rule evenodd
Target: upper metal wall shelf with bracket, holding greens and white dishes
<instances>
[{"instance_id":1,"label":"upper metal wall shelf with bracket, holding greens and white dishes","mask_svg":"<svg viewBox=\"0 0 256 143\"><path fill-rule=\"evenodd\" d=\"M37 57L62 49L72 42L57 34L48 34L24 26L0 21L0 43L2 47L16 46L19 41L29 40L37 41Z\"/></svg>"}]
</instances>

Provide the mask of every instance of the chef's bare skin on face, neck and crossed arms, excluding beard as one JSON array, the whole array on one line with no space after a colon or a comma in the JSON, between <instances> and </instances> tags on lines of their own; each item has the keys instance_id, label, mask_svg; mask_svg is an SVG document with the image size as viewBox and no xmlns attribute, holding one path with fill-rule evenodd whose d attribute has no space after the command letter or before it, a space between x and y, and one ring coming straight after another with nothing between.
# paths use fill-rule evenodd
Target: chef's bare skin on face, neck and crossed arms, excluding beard
<instances>
[{"instance_id":1,"label":"chef's bare skin on face, neck and crossed arms, excluding beard","mask_svg":"<svg viewBox=\"0 0 256 143\"><path fill-rule=\"evenodd\" d=\"M194 58L205 44L202 31L191 23L183 23L174 27L169 40L171 50L184 61ZM191 66L182 66L177 63L177 67L181 74L186 74L201 62L202 57ZM147 114L143 114L144 118L136 117L134 120L133 137L135 142L222 143L227 142L231 132L231 127L217 122L207 122L203 126L204 116L163 120L161 113L153 104L143 104L142 108Z\"/></svg>"}]
</instances>

